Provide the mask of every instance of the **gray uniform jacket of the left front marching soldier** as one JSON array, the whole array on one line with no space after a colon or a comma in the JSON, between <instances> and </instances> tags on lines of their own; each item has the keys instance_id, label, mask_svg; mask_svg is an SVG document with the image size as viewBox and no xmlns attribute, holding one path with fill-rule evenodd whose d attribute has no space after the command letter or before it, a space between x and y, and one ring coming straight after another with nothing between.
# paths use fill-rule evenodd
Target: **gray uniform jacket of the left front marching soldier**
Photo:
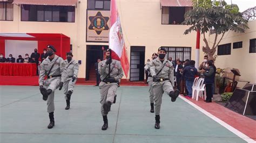
<instances>
[{"instance_id":1,"label":"gray uniform jacket of the left front marching soldier","mask_svg":"<svg viewBox=\"0 0 256 143\"><path fill-rule=\"evenodd\" d=\"M48 75L49 70L53 64L55 64L55 65L52 67L51 73L49 74L49 76L61 75L61 82L66 81L66 77L68 76L68 73L66 71L65 62L62 58L60 58L60 57L58 58L58 57L59 56L55 55L53 60L50 61L49 56L48 56L45 60L43 60L43 62L41 63L41 70L40 70L40 74L39 74L39 85L44 84L44 77L45 77L45 75ZM58 58L58 60L56 61L57 58ZM55 77L53 77L53 78L55 78Z\"/></svg>"}]
</instances>

